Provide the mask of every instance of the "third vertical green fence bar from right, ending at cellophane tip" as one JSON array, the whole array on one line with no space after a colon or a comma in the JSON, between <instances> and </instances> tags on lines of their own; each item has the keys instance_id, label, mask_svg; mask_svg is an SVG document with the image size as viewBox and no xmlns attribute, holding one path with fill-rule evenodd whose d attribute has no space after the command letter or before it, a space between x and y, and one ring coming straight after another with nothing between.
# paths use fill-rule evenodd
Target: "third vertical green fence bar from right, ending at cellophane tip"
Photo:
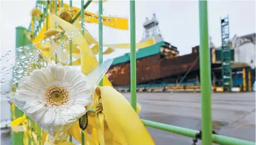
<instances>
[{"instance_id":1,"label":"third vertical green fence bar from right, ending at cellophane tip","mask_svg":"<svg viewBox=\"0 0 256 145\"><path fill-rule=\"evenodd\" d=\"M102 0L99 0L99 66L103 63L103 19L102 19ZM101 71L101 70L100 70ZM103 79L99 83L103 86Z\"/></svg>"}]
</instances>

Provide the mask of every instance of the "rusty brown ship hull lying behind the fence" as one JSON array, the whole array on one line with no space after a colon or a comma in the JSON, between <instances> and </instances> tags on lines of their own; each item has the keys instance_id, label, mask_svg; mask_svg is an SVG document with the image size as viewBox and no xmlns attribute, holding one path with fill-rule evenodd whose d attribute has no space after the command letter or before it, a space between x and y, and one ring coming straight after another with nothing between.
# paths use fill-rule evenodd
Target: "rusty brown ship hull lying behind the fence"
<instances>
[{"instance_id":1,"label":"rusty brown ship hull lying behind the fence","mask_svg":"<svg viewBox=\"0 0 256 145\"><path fill-rule=\"evenodd\" d=\"M188 70L199 70L199 53L171 59L160 58L160 54L140 58L137 59L137 85L183 74ZM114 86L130 85L130 61L111 66L107 76Z\"/></svg>"}]
</instances>

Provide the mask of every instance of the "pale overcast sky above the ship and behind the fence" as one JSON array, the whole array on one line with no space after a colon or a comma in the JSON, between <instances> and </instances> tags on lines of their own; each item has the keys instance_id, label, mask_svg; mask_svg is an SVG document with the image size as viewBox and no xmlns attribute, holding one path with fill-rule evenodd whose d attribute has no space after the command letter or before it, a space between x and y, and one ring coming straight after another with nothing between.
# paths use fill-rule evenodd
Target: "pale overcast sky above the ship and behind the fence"
<instances>
[{"instance_id":1,"label":"pale overcast sky above the ship and behind the fence","mask_svg":"<svg viewBox=\"0 0 256 145\"><path fill-rule=\"evenodd\" d=\"M68 2L68 1L64 1ZM80 7L80 1L74 1ZM1 4L1 52L15 48L15 27L28 27L30 11L34 1L3 0ZM197 1L136 1L136 41L142 39L145 18L151 19L156 13L159 28L166 42L176 46L180 54L191 53L193 46L199 45L199 10ZM88 11L97 13L97 4L91 3ZM129 17L128 1L108 1L103 3L104 15ZM209 1L209 35L215 46L221 45L220 17L229 15L230 37L234 34L246 35L255 32L255 1ZM103 43L130 43L129 31L103 27ZM88 30L98 36L96 24L89 24Z\"/></svg>"}]
</instances>

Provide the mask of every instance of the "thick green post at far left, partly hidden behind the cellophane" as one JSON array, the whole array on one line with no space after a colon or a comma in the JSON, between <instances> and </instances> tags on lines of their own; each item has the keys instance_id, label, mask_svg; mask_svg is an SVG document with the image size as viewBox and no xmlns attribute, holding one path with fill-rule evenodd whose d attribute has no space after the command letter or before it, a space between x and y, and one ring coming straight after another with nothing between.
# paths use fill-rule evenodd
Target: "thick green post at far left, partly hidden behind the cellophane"
<instances>
[{"instance_id":1,"label":"thick green post at far left, partly hidden behind the cellophane","mask_svg":"<svg viewBox=\"0 0 256 145\"><path fill-rule=\"evenodd\" d=\"M16 27L16 48L27 45L25 29L22 26ZM16 51L17 52L17 51ZM19 55L18 53L16 53ZM14 116L17 119L18 117L23 116L23 112L15 106ZM12 118L12 117L11 117ZM13 120L13 119L11 119ZM12 132L11 131L11 145L23 145L23 132Z\"/></svg>"}]
</instances>

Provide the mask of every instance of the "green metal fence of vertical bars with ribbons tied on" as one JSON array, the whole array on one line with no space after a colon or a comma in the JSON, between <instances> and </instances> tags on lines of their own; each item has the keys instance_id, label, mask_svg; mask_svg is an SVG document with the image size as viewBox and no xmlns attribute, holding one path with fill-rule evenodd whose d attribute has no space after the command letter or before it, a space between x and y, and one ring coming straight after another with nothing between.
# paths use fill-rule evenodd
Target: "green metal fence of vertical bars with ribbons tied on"
<instances>
[{"instance_id":1,"label":"green metal fence of vertical bars with ribbons tied on","mask_svg":"<svg viewBox=\"0 0 256 145\"><path fill-rule=\"evenodd\" d=\"M52 2L57 1L37 1L36 7L39 10L44 11L42 16L37 16L33 18L34 25L30 25L28 31L33 35L38 34L41 30L42 23L44 23L44 17L46 16L46 23L48 23L47 10L48 2L50 5ZM84 4L84 1L81 1L80 12L71 20L73 23L79 16L81 20L84 20L84 10L88 7L91 1L87 1ZM55 3L56 4L56 3ZM57 6L57 5L56 5ZM136 11L135 11L135 1L130 1L130 39L131 39L131 106L136 110ZM61 7L63 7L63 1L61 1ZM72 1L70 0L70 7L72 7ZM51 7L50 7L50 11ZM57 12L57 7L55 7L55 12ZM223 144L223 145L246 145L246 144L255 144L252 141L240 140L237 138L225 137L223 135L212 134L212 118L211 118L211 61L210 61L210 51L208 46L208 9L207 1L199 1L199 23L200 23L200 85L201 85L201 100L202 100L202 143L203 145L210 145L212 143ZM84 28L84 25L81 25ZM31 29L34 27L33 29ZM102 24L102 0L99 0L99 64L103 63L103 24ZM82 34L84 34L84 29L82 29ZM72 42L70 41L70 65L72 65ZM102 85L102 81L99 85ZM95 110L90 110L90 112L95 113ZM84 118L84 117L82 117ZM178 126L166 125L163 123L152 122L149 120L142 120L145 126L151 128L160 129L163 131L171 132L174 134L183 135L185 137L195 138L195 135L199 134L199 131L193 129L181 128ZM84 145L84 134L82 134L82 145ZM13 141L13 140L12 140ZM70 141L72 137L70 136ZM15 145L19 143L13 142ZM192 140L191 140L192 143Z\"/></svg>"}]
</instances>

